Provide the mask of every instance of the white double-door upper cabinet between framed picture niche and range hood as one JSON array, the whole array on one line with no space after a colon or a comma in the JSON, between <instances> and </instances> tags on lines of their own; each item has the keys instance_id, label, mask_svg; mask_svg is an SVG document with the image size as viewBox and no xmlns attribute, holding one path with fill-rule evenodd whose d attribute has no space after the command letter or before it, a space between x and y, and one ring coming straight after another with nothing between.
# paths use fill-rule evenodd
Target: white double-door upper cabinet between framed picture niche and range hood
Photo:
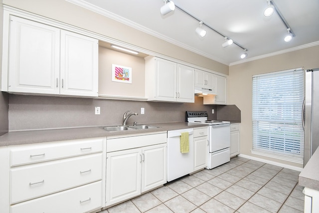
<instances>
[{"instance_id":1,"label":"white double-door upper cabinet between framed picture niche and range hood","mask_svg":"<svg viewBox=\"0 0 319 213\"><path fill-rule=\"evenodd\" d=\"M145 91L151 101L194 102L193 68L165 59L146 59Z\"/></svg>"}]
</instances>

